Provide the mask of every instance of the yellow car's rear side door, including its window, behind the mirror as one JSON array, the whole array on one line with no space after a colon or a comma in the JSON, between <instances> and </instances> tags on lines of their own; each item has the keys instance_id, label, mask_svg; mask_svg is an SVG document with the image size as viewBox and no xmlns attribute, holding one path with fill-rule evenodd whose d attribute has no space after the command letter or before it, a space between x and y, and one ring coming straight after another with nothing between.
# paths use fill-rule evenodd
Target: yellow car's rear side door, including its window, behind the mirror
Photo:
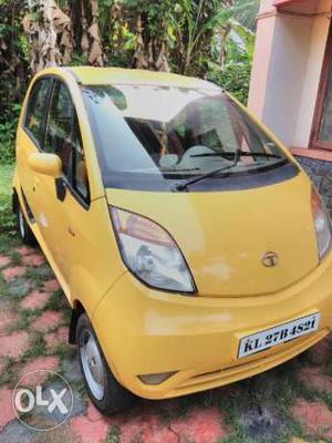
<instances>
[{"instance_id":1,"label":"yellow car's rear side door, including its window, behind the mirror","mask_svg":"<svg viewBox=\"0 0 332 443\"><path fill-rule=\"evenodd\" d=\"M29 166L29 156L43 150L44 127L46 123L49 100L53 79L50 76L37 80L31 89L27 102L27 111L22 127L17 136L17 168L23 197L23 203L31 222L38 222L37 213L42 177Z\"/></svg>"}]
</instances>

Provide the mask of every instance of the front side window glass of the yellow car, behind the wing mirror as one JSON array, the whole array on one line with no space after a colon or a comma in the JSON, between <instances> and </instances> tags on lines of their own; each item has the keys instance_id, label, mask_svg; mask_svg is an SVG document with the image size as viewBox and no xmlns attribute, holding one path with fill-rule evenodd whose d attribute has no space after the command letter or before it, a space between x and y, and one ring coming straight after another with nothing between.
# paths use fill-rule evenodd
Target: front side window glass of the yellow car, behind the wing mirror
<instances>
[{"instance_id":1,"label":"front side window glass of the yellow car, behind the wing mirror","mask_svg":"<svg viewBox=\"0 0 332 443\"><path fill-rule=\"evenodd\" d=\"M56 82L50 106L45 151L59 155L62 171L81 197L89 198L89 182L77 116L68 87Z\"/></svg>"}]
</instances>

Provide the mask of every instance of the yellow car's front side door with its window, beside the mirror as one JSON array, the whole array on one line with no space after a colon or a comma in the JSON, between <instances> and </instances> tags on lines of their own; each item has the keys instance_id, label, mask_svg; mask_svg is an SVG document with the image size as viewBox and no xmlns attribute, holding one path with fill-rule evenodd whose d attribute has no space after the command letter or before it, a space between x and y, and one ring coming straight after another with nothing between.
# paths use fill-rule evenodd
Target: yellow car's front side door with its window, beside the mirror
<instances>
[{"instance_id":1,"label":"yellow car's front side door with its window, beside the mirror","mask_svg":"<svg viewBox=\"0 0 332 443\"><path fill-rule=\"evenodd\" d=\"M43 178L38 218L53 265L60 272L62 285L68 287L75 259L71 250L75 245L71 240L76 235L80 220L83 219L84 225L86 219L90 188L75 106L68 86L58 79L51 93L44 151L61 158L62 176L55 181L46 176Z\"/></svg>"}]
</instances>

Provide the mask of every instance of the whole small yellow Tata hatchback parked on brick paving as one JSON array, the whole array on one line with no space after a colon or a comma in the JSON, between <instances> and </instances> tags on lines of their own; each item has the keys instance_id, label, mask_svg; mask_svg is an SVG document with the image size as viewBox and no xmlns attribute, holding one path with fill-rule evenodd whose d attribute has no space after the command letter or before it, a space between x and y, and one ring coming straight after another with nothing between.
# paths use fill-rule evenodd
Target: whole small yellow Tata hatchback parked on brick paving
<instances>
[{"instance_id":1,"label":"whole small yellow Tata hatchback parked on brick paving","mask_svg":"<svg viewBox=\"0 0 332 443\"><path fill-rule=\"evenodd\" d=\"M287 148L212 83L40 72L13 207L69 299L70 342L105 414L251 377L331 329L325 208Z\"/></svg>"}]
</instances>

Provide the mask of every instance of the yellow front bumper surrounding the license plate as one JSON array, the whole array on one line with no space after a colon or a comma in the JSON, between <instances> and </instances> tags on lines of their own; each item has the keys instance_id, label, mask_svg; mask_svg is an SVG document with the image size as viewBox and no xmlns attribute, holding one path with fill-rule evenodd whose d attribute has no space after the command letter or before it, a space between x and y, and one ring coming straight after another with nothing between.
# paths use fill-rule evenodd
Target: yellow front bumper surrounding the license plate
<instances>
[{"instance_id":1,"label":"yellow front bumper surrounding the license plate","mask_svg":"<svg viewBox=\"0 0 332 443\"><path fill-rule=\"evenodd\" d=\"M317 332L238 359L239 339L313 312ZM211 389L278 365L332 328L332 254L305 278L259 297L185 297L148 289L129 272L104 296L93 326L121 384L147 399ZM137 375L176 372L157 385Z\"/></svg>"}]
</instances>

